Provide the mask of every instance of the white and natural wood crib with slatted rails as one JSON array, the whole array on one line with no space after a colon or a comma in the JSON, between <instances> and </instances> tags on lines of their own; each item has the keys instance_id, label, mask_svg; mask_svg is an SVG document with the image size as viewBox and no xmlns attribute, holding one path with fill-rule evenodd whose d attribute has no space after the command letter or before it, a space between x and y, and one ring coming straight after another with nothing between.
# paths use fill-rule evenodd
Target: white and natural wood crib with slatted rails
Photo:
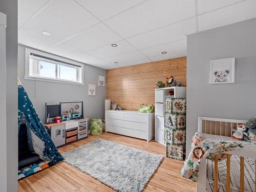
<instances>
[{"instance_id":1,"label":"white and natural wood crib with slatted rails","mask_svg":"<svg viewBox=\"0 0 256 192\"><path fill-rule=\"evenodd\" d=\"M220 119L220 118L209 118L209 117L198 117L198 132L212 135L221 135L230 137L232 135L232 128L237 127L239 124L245 123L245 120L234 120L234 119ZM244 158L256 159L256 151L248 151L246 148L242 148L240 151L226 152L226 187L225 191L230 191L230 157L236 155L240 157L240 191L244 191ZM256 160L255 160L256 162ZM197 192L206 191L206 169L207 160L201 161L199 169L199 180L197 182ZM256 171L255 171L256 173ZM256 176L255 180L256 180ZM256 184L254 186L256 191ZM214 191L218 191L218 157L215 156L214 163Z\"/></svg>"}]
</instances>

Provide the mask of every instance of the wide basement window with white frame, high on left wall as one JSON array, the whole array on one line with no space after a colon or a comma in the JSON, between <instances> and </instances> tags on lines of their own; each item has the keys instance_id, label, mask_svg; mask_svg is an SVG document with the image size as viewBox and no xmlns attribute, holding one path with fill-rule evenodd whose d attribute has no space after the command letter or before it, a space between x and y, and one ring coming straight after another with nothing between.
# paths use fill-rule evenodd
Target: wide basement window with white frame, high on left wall
<instances>
[{"instance_id":1,"label":"wide basement window with white frame, high on left wall","mask_svg":"<svg viewBox=\"0 0 256 192\"><path fill-rule=\"evenodd\" d=\"M25 79L83 85L83 65L48 53L26 49Z\"/></svg>"}]
</instances>

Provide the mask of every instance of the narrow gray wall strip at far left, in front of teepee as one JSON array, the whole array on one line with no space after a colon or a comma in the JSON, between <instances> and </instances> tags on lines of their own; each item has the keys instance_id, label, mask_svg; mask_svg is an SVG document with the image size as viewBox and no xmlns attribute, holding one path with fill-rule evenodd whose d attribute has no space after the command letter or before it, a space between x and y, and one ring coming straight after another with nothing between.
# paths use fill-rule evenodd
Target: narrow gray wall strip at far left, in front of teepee
<instances>
[{"instance_id":1,"label":"narrow gray wall strip at far left, in front of teepee","mask_svg":"<svg viewBox=\"0 0 256 192\"><path fill-rule=\"evenodd\" d=\"M17 191L17 0L1 0L0 11L7 15L6 28L6 139L7 174L6 189ZM1 69L2 70L2 69ZM5 113L2 111L2 113ZM3 128L3 127L1 127ZM2 158L1 158L2 159ZM0 164L1 163L0 159ZM2 167L5 167L3 165ZM1 170L0 170L1 171ZM2 179L2 178L1 178Z\"/></svg>"}]
</instances>

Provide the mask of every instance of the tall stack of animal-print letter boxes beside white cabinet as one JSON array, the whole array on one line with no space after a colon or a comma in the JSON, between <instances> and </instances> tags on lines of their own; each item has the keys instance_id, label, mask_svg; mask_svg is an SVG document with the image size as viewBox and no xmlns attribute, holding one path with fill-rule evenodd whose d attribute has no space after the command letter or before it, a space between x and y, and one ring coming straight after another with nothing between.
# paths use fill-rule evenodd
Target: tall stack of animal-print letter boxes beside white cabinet
<instances>
[{"instance_id":1,"label":"tall stack of animal-print letter boxes beside white cabinet","mask_svg":"<svg viewBox=\"0 0 256 192\"><path fill-rule=\"evenodd\" d=\"M164 112L164 140L166 157L184 160L186 142L186 99L166 98Z\"/></svg>"}]
</instances>

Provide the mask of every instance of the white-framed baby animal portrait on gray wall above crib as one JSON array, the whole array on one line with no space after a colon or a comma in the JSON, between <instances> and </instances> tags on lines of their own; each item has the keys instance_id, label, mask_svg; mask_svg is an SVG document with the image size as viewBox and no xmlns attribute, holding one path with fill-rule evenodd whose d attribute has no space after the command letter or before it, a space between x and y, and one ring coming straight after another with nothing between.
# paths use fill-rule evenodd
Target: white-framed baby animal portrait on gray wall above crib
<instances>
[{"instance_id":1,"label":"white-framed baby animal portrait on gray wall above crib","mask_svg":"<svg viewBox=\"0 0 256 192\"><path fill-rule=\"evenodd\" d=\"M234 83L235 58L210 60L210 84Z\"/></svg>"}]
</instances>

